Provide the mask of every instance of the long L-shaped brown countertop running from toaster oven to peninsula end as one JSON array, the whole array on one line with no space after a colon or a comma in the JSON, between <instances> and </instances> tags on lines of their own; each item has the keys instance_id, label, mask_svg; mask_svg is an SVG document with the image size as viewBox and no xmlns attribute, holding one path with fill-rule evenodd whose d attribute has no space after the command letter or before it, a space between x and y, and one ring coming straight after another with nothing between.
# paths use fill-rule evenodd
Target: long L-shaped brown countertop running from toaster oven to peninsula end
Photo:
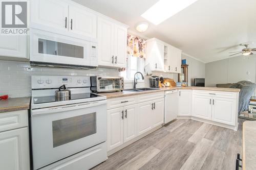
<instances>
[{"instance_id":1,"label":"long L-shaped brown countertop running from toaster oven to peninsula end","mask_svg":"<svg viewBox=\"0 0 256 170\"><path fill-rule=\"evenodd\" d=\"M140 92L132 92L132 91L120 91L120 92L108 92L108 93L99 93L100 95L106 96L106 99L112 98L120 98L124 96L138 95L138 94L146 94L160 91L168 91L168 90L179 90L179 89L193 89L193 90L209 90L209 91L226 91L226 92L240 92L240 89L237 88L218 88L218 87L166 87L157 90L148 90L148 91L140 91Z\"/></svg>"}]
</instances>

